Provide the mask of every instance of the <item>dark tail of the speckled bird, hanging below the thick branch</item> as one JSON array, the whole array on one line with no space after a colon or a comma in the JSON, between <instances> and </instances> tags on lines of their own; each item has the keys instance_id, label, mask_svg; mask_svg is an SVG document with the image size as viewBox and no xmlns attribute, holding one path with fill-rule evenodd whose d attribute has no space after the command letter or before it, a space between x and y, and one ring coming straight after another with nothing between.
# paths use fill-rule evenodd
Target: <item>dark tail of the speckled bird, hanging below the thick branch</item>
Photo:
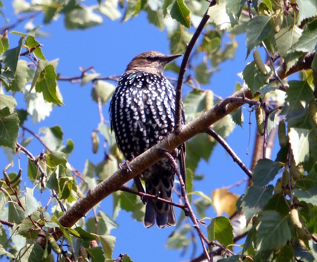
<instances>
[{"instance_id":1,"label":"dark tail of the speckled bird, hanging below the thick branch","mask_svg":"<svg viewBox=\"0 0 317 262\"><path fill-rule=\"evenodd\" d=\"M152 167L155 168L155 166ZM156 169L159 169L160 172L151 172L149 177L144 176L146 192L154 196L159 196L159 198L172 201L174 172L171 172L171 170L162 170L159 166L157 166ZM156 199L148 199L145 208L144 226L151 227L155 221L159 228L175 225L176 218L173 206Z\"/></svg>"}]
</instances>

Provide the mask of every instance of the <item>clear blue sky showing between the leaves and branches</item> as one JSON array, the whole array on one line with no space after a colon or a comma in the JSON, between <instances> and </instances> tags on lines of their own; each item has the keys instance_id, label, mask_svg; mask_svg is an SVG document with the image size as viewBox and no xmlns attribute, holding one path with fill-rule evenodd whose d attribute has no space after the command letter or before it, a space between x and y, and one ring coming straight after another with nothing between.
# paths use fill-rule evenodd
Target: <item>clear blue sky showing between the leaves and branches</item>
<instances>
[{"instance_id":1,"label":"clear blue sky showing between the leaves and branches","mask_svg":"<svg viewBox=\"0 0 317 262\"><path fill-rule=\"evenodd\" d=\"M95 1L89 2L95 3ZM10 22L16 21L12 7L7 2L4 2L4 4L7 18L10 19ZM3 18L0 21L0 24L4 23ZM56 71L64 77L80 75L79 67L86 68L89 66L94 66L94 69L102 76L118 75L124 72L127 63L138 53L150 50L169 53L167 32L160 32L158 28L149 24L146 14L142 12L126 23L110 21L105 18L103 25L87 30L66 30L63 17L59 17L57 21L53 21L49 25L44 25L42 16L39 16L33 21L33 24L34 26L43 25L41 30L51 35L49 38L39 38L38 41L44 45L43 52L47 59L59 58ZM14 30L24 32L23 25L23 23L20 24ZM10 48L17 45L17 39L17 37L9 35ZM252 59L249 57L245 60L245 36L239 35L236 40L239 46L233 60L220 64L220 71L213 74L211 85L208 87L202 86L204 89L210 88L221 97L233 93L236 82L242 83L237 73L242 72L247 62ZM178 58L176 62L180 64L181 58ZM175 77L167 71L165 75ZM102 150L99 150L96 155L91 150L91 132L100 122L98 106L91 99L91 84L80 87L79 84L59 81L58 85L65 105L56 106L50 117L44 121L34 125L32 120L28 119L25 125L34 132L38 132L41 127L61 126L64 132L64 140L72 139L75 144L69 162L76 169L83 171L86 159L90 159L94 164L97 164L103 158ZM185 92L187 91L188 89L185 89ZM19 96L17 100L17 107L23 107L23 102L19 99ZM243 110L243 112L245 116L244 128L236 127L227 142L244 163L250 166L255 125L252 126L250 134L247 124L249 114L246 110ZM105 119L108 120L108 104L103 107L103 113ZM255 123L254 116L252 117L252 122ZM249 135L251 135L251 144L249 150L247 150ZM33 140L29 150L37 156L43 150L43 146ZM249 155L246 154L247 152L249 152ZM2 150L0 150L0 162L1 168L7 163ZM15 163L17 163L17 158L15 158ZM26 171L26 157L24 156L21 159L21 166ZM17 165L10 170L17 171ZM195 183L195 190L203 191L206 194L211 194L215 188L229 186L246 177L220 147L216 147L208 162L203 161L199 164L197 173L204 174L205 179ZM23 181L26 180L25 177ZM32 185L28 184L28 186ZM245 186L244 183L239 187L232 188L231 191L242 194ZM45 205L47 201L46 194L41 196L41 201ZM104 200L101 205L103 210L111 215L111 200ZM92 212L87 214L87 216L91 215ZM178 215L179 210L176 217ZM209 215L215 216L212 210L209 211ZM190 259L192 255L192 252L187 252L183 257L180 257L180 251L164 248L167 237L171 234L173 228L158 229L152 227L146 229L143 223L134 221L131 215L125 211L120 212L116 221L119 228L113 229L111 232L111 235L117 238L113 258L116 258L120 253L127 253L136 262L149 261L150 258L151 261L183 261ZM196 256L202 253L199 240L197 246Z\"/></svg>"}]
</instances>

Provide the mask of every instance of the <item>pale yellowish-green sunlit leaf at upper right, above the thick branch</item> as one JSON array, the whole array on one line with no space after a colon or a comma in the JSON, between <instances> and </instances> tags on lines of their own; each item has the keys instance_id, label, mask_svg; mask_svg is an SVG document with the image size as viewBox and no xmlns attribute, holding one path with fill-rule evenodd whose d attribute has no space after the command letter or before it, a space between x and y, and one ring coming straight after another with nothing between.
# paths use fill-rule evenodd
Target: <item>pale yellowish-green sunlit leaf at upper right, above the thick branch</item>
<instances>
[{"instance_id":1,"label":"pale yellowish-green sunlit leaf at upper right, above the thick branch","mask_svg":"<svg viewBox=\"0 0 317 262\"><path fill-rule=\"evenodd\" d=\"M286 26L275 34L276 50L284 57L287 52L297 43L303 30L296 25Z\"/></svg>"}]
</instances>

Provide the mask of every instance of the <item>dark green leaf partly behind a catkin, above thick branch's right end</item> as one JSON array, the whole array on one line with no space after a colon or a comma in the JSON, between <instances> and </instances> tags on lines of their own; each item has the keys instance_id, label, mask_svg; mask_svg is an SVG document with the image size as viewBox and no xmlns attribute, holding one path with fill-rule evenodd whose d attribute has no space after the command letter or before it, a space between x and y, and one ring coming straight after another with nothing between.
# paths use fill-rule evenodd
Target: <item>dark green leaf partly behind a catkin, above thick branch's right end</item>
<instances>
[{"instance_id":1,"label":"dark green leaf partly behind a catkin, above thick branch's right end","mask_svg":"<svg viewBox=\"0 0 317 262\"><path fill-rule=\"evenodd\" d=\"M269 72L270 69L268 66L265 65L266 70ZM243 80L248 85L252 95L257 93L261 87L267 82L269 77L269 73L264 76L256 66L255 61L247 64L247 66L243 69Z\"/></svg>"}]
</instances>

